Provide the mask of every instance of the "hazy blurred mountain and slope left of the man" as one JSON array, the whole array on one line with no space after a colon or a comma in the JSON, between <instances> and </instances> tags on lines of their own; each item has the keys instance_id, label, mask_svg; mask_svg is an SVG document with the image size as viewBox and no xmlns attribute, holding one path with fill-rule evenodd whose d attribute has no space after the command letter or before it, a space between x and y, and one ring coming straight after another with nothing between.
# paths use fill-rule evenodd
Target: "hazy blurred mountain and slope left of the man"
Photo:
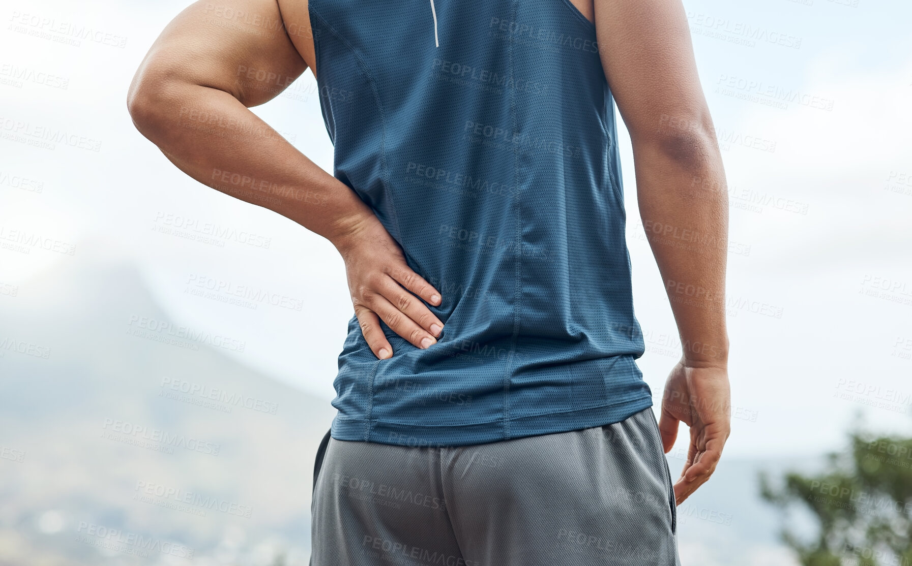
<instances>
[{"instance_id":1,"label":"hazy blurred mountain and slope left of the man","mask_svg":"<svg viewBox=\"0 0 912 566\"><path fill-rule=\"evenodd\" d=\"M0 564L306 564L335 408L237 347L171 321L130 263L0 296Z\"/></svg>"}]
</instances>

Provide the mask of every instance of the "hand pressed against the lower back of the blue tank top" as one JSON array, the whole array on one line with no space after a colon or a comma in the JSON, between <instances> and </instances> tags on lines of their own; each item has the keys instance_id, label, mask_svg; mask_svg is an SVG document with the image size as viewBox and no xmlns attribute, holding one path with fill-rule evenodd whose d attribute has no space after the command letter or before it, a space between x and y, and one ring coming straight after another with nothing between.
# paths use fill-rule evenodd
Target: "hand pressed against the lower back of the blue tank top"
<instances>
[{"instance_id":1,"label":"hand pressed against the lower back of the blue tank top","mask_svg":"<svg viewBox=\"0 0 912 566\"><path fill-rule=\"evenodd\" d=\"M345 261L358 324L374 355L381 359L393 355L380 320L419 348L437 342L443 323L421 299L440 305L440 293L409 268L399 243L377 216L362 217L334 243Z\"/></svg>"}]
</instances>

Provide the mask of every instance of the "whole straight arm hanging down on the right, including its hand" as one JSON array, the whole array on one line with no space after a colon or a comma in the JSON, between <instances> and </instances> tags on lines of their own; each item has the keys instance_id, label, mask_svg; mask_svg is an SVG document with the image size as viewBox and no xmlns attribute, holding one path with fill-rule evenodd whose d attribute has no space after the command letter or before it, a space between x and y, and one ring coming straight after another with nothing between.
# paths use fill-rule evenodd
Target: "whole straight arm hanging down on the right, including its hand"
<instances>
[{"instance_id":1,"label":"whole straight arm hanging down on the right, including its hand","mask_svg":"<svg viewBox=\"0 0 912 566\"><path fill-rule=\"evenodd\" d=\"M731 430L725 327L728 191L680 0L595 0L599 56L630 132L637 201L683 354L658 427L668 452L679 422L688 458L680 504L710 478Z\"/></svg>"}]
</instances>

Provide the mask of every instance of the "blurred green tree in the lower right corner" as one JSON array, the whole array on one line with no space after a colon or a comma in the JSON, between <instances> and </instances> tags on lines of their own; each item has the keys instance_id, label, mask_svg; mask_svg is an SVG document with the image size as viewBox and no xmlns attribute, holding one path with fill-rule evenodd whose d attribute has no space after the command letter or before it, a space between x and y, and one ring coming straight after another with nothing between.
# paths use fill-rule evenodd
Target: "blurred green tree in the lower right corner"
<instances>
[{"instance_id":1,"label":"blurred green tree in the lower right corner","mask_svg":"<svg viewBox=\"0 0 912 566\"><path fill-rule=\"evenodd\" d=\"M912 566L912 438L876 437L857 429L820 473L790 471L761 495L782 510L782 540L803 566ZM788 512L809 510L818 530L802 540Z\"/></svg>"}]
</instances>

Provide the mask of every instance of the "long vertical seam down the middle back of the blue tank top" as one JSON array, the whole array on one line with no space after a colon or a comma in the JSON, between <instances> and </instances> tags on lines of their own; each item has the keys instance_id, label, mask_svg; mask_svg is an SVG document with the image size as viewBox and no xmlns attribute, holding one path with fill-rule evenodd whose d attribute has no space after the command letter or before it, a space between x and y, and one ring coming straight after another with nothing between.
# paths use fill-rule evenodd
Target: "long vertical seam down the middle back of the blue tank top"
<instances>
[{"instance_id":1,"label":"long vertical seam down the middle back of the blue tank top","mask_svg":"<svg viewBox=\"0 0 912 566\"><path fill-rule=\"evenodd\" d=\"M510 3L510 21L516 21L516 7L518 0ZM523 298L523 218L522 207L519 202L519 147L516 145L515 135L518 118L516 118L516 89L514 87L515 67L513 67L513 54L515 52L515 39L511 36L509 42L510 57L510 117L513 121L513 216L516 218L516 230L513 234L513 335L510 337L510 355L507 357L506 367L503 371L503 439L510 438L510 374L513 367L513 356L516 355L516 336L519 334L520 301Z\"/></svg>"}]
</instances>

